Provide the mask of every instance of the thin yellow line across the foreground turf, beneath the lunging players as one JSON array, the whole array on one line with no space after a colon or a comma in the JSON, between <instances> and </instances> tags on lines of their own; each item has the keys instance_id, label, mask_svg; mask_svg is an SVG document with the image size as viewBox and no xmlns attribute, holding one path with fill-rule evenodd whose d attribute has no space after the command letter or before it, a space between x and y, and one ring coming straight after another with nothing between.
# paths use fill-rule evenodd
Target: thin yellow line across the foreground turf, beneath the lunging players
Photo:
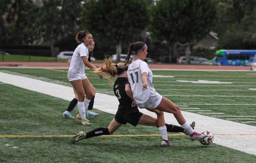
<instances>
[{"instance_id":1,"label":"thin yellow line across the foreground turf, beneath the lunging players","mask_svg":"<svg viewBox=\"0 0 256 163\"><path fill-rule=\"evenodd\" d=\"M177 136L184 134L168 134L168 136ZM213 134L213 135L255 135L256 134ZM49 138L49 137L73 137L75 135L0 135L0 137L5 138ZM151 134L151 135L102 135L102 137L125 137L125 136L161 136L160 134Z\"/></svg>"}]
</instances>

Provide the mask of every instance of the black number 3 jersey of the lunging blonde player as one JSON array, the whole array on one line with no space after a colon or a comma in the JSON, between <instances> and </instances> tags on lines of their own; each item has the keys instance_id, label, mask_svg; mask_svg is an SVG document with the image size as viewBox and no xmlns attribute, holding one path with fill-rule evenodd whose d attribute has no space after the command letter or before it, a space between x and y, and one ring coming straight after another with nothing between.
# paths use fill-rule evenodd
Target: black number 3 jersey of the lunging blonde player
<instances>
[{"instance_id":1,"label":"black number 3 jersey of the lunging blonde player","mask_svg":"<svg viewBox=\"0 0 256 163\"><path fill-rule=\"evenodd\" d=\"M119 101L118 111L138 112L138 107L131 107L133 100L125 92L125 84L129 84L128 78L118 77L114 84L114 93Z\"/></svg>"}]
</instances>

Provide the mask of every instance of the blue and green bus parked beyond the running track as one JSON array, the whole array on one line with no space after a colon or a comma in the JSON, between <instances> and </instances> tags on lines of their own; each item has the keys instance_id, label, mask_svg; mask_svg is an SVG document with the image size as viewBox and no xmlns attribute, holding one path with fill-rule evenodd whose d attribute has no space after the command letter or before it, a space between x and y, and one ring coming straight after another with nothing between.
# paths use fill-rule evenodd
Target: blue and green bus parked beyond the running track
<instances>
[{"instance_id":1,"label":"blue and green bus parked beyond the running track","mask_svg":"<svg viewBox=\"0 0 256 163\"><path fill-rule=\"evenodd\" d=\"M218 50L212 59L221 65L250 66L256 50Z\"/></svg>"}]
</instances>

